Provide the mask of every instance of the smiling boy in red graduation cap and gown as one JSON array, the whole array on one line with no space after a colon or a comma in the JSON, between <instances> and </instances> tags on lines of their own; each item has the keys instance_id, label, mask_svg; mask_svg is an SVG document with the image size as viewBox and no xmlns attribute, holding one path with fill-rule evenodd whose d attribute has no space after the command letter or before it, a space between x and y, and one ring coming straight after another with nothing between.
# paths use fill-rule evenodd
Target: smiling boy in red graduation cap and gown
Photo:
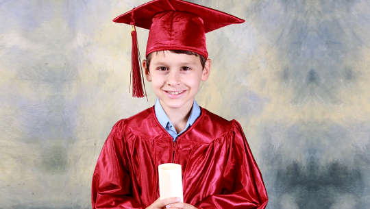
<instances>
[{"instance_id":1,"label":"smiling boy in red graduation cap and gown","mask_svg":"<svg viewBox=\"0 0 370 209\"><path fill-rule=\"evenodd\" d=\"M210 75L205 33L243 20L186 1L155 0L114 21L150 29L143 68L158 99L112 127L93 174L93 208L265 208L262 176L240 124L194 100ZM133 94L143 96L135 33ZM182 165L183 203L158 198L158 165L167 162Z\"/></svg>"}]
</instances>

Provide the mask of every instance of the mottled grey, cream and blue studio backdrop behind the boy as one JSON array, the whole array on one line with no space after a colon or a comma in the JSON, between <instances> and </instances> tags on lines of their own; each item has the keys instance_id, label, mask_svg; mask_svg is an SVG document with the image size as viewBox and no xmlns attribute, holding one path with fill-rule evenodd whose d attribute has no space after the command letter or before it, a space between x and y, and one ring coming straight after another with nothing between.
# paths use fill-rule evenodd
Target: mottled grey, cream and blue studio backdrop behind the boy
<instances>
[{"instance_id":1,"label":"mottled grey, cream and blue studio backdrop behind the boy","mask_svg":"<svg viewBox=\"0 0 370 209\"><path fill-rule=\"evenodd\" d=\"M197 101L243 125L267 208L370 208L370 2L193 2L245 19L207 34ZM111 21L141 3L0 1L0 208L90 208L110 128L155 101Z\"/></svg>"}]
</instances>

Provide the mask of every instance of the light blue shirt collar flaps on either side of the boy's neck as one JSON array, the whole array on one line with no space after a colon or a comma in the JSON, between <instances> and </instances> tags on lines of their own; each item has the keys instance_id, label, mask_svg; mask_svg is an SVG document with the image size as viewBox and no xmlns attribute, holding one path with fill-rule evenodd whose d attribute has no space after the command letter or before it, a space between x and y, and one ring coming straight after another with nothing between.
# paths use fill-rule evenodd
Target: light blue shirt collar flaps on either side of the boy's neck
<instances>
[{"instance_id":1,"label":"light blue shirt collar flaps on either side of the boy's neck","mask_svg":"<svg viewBox=\"0 0 370 209\"><path fill-rule=\"evenodd\" d=\"M162 106L160 105L159 99L157 99L156 104L154 105L154 110L156 112L156 117L158 121L160 122L160 125L162 125L164 129L166 129L167 125L172 125L173 127L173 124L171 123L169 117L167 116L166 112L164 112ZM191 112L188 117L188 121L186 122L185 129L193 125L193 123L197 120L200 114L201 114L201 110L199 108L199 105L197 101L194 100L193 107L191 108Z\"/></svg>"}]
</instances>

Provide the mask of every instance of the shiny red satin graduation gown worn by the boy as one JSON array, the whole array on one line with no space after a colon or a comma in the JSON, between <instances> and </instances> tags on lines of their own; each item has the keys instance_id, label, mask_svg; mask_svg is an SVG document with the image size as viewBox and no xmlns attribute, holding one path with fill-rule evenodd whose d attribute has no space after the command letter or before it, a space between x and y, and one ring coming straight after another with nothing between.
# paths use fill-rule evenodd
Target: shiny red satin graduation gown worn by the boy
<instances>
[{"instance_id":1,"label":"shiny red satin graduation gown worn by the boy","mask_svg":"<svg viewBox=\"0 0 370 209\"><path fill-rule=\"evenodd\" d=\"M146 208L159 197L158 165L182 165L184 202L197 208L265 208L267 193L242 127L201 108L173 143L148 108L118 121L93 174L95 208Z\"/></svg>"}]
</instances>

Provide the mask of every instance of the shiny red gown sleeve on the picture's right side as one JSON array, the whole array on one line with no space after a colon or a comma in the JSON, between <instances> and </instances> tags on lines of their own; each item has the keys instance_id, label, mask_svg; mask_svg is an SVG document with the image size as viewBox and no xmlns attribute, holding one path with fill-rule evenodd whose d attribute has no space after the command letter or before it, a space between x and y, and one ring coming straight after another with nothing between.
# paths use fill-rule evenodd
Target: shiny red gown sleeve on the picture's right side
<instances>
[{"instance_id":1,"label":"shiny red gown sleeve on the picture's right side","mask_svg":"<svg viewBox=\"0 0 370 209\"><path fill-rule=\"evenodd\" d=\"M195 206L206 208L263 209L267 206L267 192L262 175L240 124L233 120L234 137L227 167L223 173L221 194L210 195Z\"/></svg>"}]
</instances>

